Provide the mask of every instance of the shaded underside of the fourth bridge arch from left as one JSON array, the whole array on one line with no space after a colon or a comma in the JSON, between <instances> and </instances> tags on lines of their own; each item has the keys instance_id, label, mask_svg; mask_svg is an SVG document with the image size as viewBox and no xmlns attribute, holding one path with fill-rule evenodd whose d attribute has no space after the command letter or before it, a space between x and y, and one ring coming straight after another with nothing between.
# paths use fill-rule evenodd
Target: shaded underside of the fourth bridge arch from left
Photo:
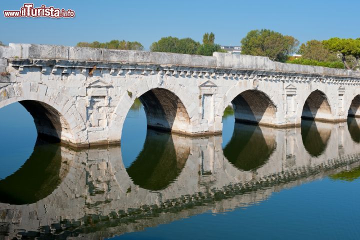
<instances>
[{"instance_id":1,"label":"shaded underside of the fourth bridge arch from left","mask_svg":"<svg viewBox=\"0 0 360 240\"><path fill-rule=\"evenodd\" d=\"M320 90L314 90L309 94L302 107L301 118L318 120L331 119L331 107L325 93Z\"/></svg>"}]
</instances>

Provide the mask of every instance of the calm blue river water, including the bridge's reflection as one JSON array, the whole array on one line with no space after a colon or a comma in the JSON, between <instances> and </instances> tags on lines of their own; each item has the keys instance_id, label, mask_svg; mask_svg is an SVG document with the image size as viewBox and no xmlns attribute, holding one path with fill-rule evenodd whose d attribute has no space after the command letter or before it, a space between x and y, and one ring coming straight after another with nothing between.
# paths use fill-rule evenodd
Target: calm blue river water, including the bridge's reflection
<instances>
[{"instance_id":1,"label":"calm blue river water, including the bridge's reflection","mask_svg":"<svg viewBox=\"0 0 360 240\"><path fill-rule=\"evenodd\" d=\"M146 130L132 106L121 147L36 140L0 109L0 239L359 239L360 120L191 138ZM36 144L35 144L36 142Z\"/></svg>"}]
</instances>

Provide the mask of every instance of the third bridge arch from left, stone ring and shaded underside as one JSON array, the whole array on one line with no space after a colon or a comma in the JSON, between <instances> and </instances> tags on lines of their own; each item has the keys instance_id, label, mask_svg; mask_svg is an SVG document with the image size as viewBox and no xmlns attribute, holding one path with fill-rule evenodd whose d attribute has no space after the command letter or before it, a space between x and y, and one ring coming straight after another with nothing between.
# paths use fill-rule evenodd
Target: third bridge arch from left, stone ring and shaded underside
<instances>
[{"instance_id":1,"label":"third bridge arch from left, stone ring and shaded underside","mask_svg":"<svg viewBox=\"0 0 360 240\"><path fill-rule=\"evenodd\" d=\"M260 89L233 86L216 108L215 127L221 122L223 112L230 103L234 108L236 121L274 125L277 104L272 97Z\"/></svg>"}]
</instances>

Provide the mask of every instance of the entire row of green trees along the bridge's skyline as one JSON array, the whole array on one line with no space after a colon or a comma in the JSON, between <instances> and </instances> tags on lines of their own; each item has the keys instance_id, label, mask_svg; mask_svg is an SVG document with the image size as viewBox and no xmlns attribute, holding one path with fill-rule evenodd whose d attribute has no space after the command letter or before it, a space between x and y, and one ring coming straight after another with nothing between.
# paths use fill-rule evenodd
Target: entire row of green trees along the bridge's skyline
<instances>
[{"instance_id":1,"label":"entire row of green trees along the bridge's skyline","mask_svg":"<svg viewBox=\"0 0 360 240\"><path fill-rule=\"evenodd\" d=\"M241 54L267 56L273 61L356 69L360 59L360 38L332 37L327 40L309 40L302 43L293 36L282 35L269 29L249 31L241 39ZM0 41L0 45L2 42ZM108 42L78 42L76 46L108 49L143 50L138 41L110 40ZM174 52L211 56L213 52L226 52L215 43L214 33L203 34L202 43L190 37L166 36L150 45L150 51ZM301 57L293 57L293 53Z\"/></svg>"}]
</instances>

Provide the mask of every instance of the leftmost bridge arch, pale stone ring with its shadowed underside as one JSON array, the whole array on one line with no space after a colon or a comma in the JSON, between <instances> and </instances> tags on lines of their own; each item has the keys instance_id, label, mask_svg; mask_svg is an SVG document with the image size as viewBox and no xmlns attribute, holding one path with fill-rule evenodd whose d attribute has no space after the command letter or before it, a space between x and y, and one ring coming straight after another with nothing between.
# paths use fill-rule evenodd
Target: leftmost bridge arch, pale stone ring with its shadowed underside
<instances>
[{"instance_id":1,"label":"leftmost bridge arch, pale stone ring with its shadowed underside","mask_svg":"<svg viewBox=\"0 0 360 240\"><path fill-rule=\"evenodd\" d=\"M19 96L13 94L13 85L1 89L4 97L0 99L0 108L19 102L33 117L39 136L72 146L88 144L82 117L66 96L58 93L54 100L45 94L46 91L30 91L30 88L23 87L22 84L15 87L16 91L21 93Z\"/></svg>"}]
</instances>

